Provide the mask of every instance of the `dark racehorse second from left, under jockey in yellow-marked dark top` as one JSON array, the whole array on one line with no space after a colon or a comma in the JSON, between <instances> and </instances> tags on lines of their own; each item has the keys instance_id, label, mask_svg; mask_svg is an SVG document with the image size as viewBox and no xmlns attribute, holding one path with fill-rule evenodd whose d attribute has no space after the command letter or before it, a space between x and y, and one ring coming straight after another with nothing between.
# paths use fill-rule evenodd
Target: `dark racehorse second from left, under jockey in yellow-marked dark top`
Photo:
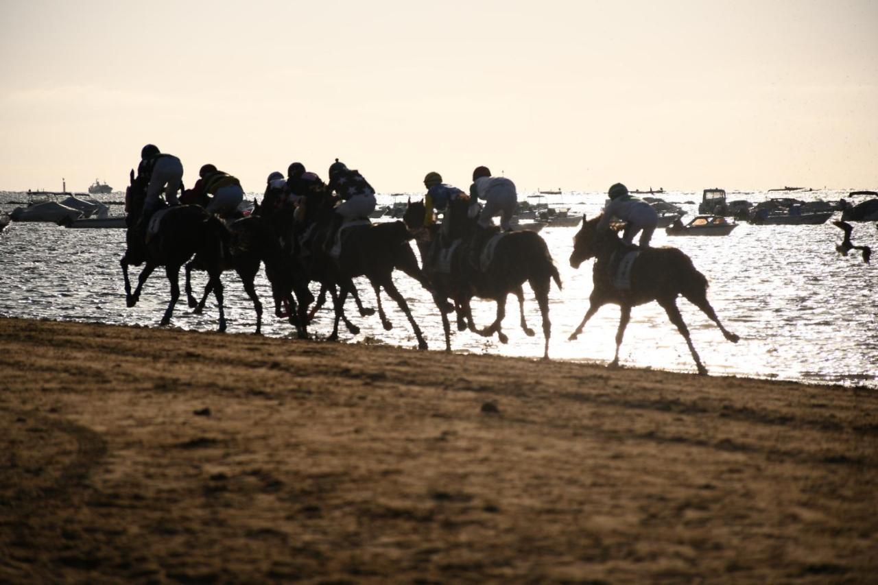
<instances>
[{"instance_id":1,"label":"dark racehorse second from left, under jockey in yellow-marked dark top","mask_svg":"<svg viewBox=\"0 0 878 585\"><path fill-rule=\"evenodd\" d=\"M221 267L224 270L232 270L238 273L241 284L247 292L256 312L256 333L262 332L263 304L255 290L255 277L259 272L260 264L265 264L265 275L271 284L271 293L275 301L275 314L278 317L288 317L291 324L296 328L300 338L307 338L306 330L306 307L313 300L306 285L297 279L295 271L295 259L284 253L281 243L268 222L262 217L250 215L241 220L233 221L229 227L229 239L227 249L224 250L224 262ZM205 293L201 300L192 296L191 271L204 270L205 264L201 256L186 264L186 298L189 306L195 309L195 313L201 313L205 307L205 301L211 292L211 287L205 287ZM304 290L303 290L304 289ZM299 314L297 303L293 299L292 291L299 294ZM284 307L284 308L282 308Z\"/></svg>"}]
</instances>

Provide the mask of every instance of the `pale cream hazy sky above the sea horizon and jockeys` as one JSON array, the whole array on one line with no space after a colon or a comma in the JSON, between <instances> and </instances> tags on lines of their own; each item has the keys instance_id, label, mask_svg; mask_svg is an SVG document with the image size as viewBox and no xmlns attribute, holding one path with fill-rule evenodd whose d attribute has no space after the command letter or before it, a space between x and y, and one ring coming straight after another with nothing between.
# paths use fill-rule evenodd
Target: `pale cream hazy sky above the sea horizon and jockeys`
<instances>
[{"instance_id":1,"label":"pale cream hazy sky above the sea horizon and jockeys","mask_svg":"<svg viewBox=\"0 0 878 585\"><path fill-rule=\"evenodd\" d=\"M263 191L878 187L871 0L0 0L0 190L123 189L140 148Z\"/></svg>"}]
</instances>

